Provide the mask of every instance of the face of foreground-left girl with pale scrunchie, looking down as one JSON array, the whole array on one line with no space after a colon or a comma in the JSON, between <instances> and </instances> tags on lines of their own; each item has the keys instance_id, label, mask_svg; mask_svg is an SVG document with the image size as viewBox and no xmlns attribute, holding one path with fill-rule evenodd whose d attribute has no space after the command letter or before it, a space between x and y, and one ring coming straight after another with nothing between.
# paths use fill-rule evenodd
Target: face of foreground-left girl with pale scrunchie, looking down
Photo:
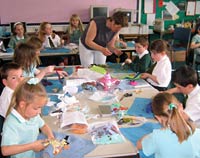
<instances>
[{"instance_id":1,"label":"face of foreground-left girl with pale scrunchie, looking down","mask_svg":"<svg viewBox=\"0 0 200 158\"><path fill-rule=\"evenodd\" d=\"M22 113L20 113L25 119L30 119L32 117L41 114L42 107L47 103L47 98L45 97L35 97L33 102L26 104L24 101L21 103ZM19 110L20 111L20 110Z\"/></svg>"}]
</instances>

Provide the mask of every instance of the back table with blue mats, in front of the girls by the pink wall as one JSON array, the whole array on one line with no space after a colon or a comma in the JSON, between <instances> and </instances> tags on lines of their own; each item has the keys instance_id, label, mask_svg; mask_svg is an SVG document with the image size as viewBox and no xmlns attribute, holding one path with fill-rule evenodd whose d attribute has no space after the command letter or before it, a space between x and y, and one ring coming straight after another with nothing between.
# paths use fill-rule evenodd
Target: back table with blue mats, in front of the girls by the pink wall
<instances>
[{"instance_id":1,"label":"back table with blue mats, in front of the girls by the pink wall","mask_svg":"<svg viewBox=\"0 0 200 158\"><path fill-rule=\"evenodd\" d=\"M48 56L68 56L68 55L76 55L78 53L78 48L46 48L41 51L40 56L48 57ZM0 59L5 60L12 60L13 57L13 50L7 49L7 52L0 52Z\"/></svg>"}]
</instances>

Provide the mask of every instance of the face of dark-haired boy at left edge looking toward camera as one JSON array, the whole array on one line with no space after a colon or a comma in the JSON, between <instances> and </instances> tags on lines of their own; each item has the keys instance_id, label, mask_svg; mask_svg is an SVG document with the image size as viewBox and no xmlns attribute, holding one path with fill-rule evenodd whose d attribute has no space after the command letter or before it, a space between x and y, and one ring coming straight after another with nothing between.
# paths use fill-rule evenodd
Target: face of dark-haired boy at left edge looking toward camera
<instances>
[{"instance_id":1,"label":"face of dark-haired boy at left edge looking toward camera","mask_svg":"<svg viewBox=\"0 0 200 158\"><path fill-rule=\"evenodd\" d=\"M3 84L13 90L17 87L19 82L23 80L22 69L13 69L8 71L7 79L3 79Z\"/></svg>"}]
</instances>

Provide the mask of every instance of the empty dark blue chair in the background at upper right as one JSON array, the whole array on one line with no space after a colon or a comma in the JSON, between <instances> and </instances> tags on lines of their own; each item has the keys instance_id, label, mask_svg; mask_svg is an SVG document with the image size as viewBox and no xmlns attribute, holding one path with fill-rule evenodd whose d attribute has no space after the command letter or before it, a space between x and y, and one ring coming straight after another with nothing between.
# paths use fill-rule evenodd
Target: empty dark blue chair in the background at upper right
<instances>
[{"instance_id":1,"label":"empty dark blue chair in the background at upper right","mask_svg":"<svg viewBox=\"0 0 200 158\"><path fill-rule=\"evenodd\" d=\"M171 61L173 61L173 68L175 68L176 52L184 51L185 57L189 50L191 38L191 29L177 27L173 33L173 39L170 43L171 47Z\"/></svg>"}]
</instances>

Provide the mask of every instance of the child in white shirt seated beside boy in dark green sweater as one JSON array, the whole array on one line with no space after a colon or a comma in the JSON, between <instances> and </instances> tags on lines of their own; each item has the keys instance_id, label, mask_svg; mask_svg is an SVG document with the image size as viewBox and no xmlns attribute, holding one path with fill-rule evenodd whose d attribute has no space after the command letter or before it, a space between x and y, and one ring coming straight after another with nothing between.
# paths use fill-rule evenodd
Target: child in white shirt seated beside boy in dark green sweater
<instances>
[{"instance_id":1,"label":"child in white shirt seated beside boy in dark green sweater","mask_svg":"<svg viewBox=\"0 0 200 158\"><path fill-rule=\"evenodd\" d=\"M159 91L166 90L171 81L171 62L166 54L167 43L163 40L155 40L150 46L151 57L155 62L151 72L141 74L154 88Z\"/></svg>"}]
</instances>

